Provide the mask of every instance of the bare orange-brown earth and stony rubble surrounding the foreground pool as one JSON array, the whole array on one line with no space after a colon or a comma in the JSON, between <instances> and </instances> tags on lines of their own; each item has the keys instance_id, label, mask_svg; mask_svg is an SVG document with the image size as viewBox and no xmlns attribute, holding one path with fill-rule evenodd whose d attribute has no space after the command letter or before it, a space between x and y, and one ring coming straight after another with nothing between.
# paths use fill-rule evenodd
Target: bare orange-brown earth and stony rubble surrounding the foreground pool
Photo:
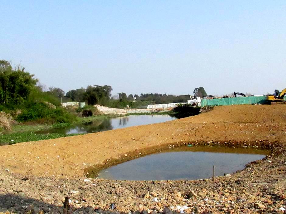
<instances>
[{"instance_id":1,"label":"bare orange-brown earth and stony rubble surrounding the foreground pool","mask_svg":"<svg viewBox=\"0 0 286 214\"><path fill-rule=\"evenodd\" d=\"M256 146L272 154L215 183L86 178L105 166L184 144ZM215 107L160 124L2 146L0 212L283 213L285 145L281 104ZM66 196L69 209L63 207Z\"/></svg>"}]
</instances>

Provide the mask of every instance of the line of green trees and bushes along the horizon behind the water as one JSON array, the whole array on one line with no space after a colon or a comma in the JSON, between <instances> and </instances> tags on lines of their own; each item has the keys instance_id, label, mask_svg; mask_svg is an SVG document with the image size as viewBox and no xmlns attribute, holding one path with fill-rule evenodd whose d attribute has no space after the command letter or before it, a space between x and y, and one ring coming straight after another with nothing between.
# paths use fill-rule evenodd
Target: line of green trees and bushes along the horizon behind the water
<instances>
[{"instance_id":1,"label":"line of green trees and bushes along the horizon behind the water","mask_svg":"<svg viewBox=\"0 0 286 214\"><path fill-rule=\"evenodd\" d=\"M196 88L194 93L205 93L202 87ZM72 116L64 108L61 102L82 101L88 105L104 105L107 107L124 108L129 105L132 108L144 107L148 104L166 104L187 102L189 94L167 95L161 93L129 94L118 93L118 98L111 97L112 87L109 85L89 85L86 88L64 90L44 87L38 84L33 74L25 71L24 67L14 68L6 60L0 60L0 111L11 112L20 109L19 121L29 121L45 118L55 122L68 122ZM206 94L206 93L205 93ZM136 102L134 102L136 97ZM51 108L53 104L56 108Z\"/></svg>"}]
</instances>

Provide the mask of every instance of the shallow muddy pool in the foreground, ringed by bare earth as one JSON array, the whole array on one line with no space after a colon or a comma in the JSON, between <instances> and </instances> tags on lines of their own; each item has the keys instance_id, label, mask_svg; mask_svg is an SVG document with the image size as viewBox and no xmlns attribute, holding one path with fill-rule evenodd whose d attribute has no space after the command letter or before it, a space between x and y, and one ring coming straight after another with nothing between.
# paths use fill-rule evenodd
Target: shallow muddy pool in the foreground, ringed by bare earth
<instances>
[{"instance_id":1,"label":"shallow muddy pool in the foreground, ringed by bare earth","mask_svg":"<svg viewBox=\"0 0 286 214\"><path fill-rule=\"evenodd\" d=\"M127 161L99 172L99 178L113 180L203 179L244 169L269 151L256 148L183 147L165 150Z\"/></svg>"}]
</instances>

